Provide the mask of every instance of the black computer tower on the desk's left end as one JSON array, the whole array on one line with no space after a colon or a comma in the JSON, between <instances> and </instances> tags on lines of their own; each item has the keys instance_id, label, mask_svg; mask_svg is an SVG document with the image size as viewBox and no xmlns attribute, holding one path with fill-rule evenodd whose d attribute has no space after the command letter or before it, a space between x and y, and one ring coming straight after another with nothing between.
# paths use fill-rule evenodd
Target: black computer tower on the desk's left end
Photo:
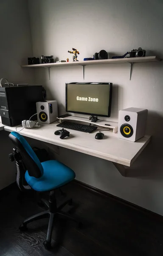
<instances>
[{"instance_id":1,"label":"black computer tower on the desk's left end","mask_svg":"<svg viewBox=\"0 0 163 256\"><path fill-rule=\"evenodd\" d=\"M37 113L36 102L43 100L42 86L0 87L0 116L8 126L20 125ZM37 116L34 116L37 119Z\"/></svg>"}]
</instances>

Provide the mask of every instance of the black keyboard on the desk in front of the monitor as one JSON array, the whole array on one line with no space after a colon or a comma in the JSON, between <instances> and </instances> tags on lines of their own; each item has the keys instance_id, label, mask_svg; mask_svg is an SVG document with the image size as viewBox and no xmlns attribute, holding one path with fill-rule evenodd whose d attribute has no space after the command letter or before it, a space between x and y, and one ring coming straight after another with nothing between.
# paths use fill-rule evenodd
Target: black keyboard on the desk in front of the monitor
<instances>
[{"instance_id":1,"label":"black keyboard on the desk in front of the monitor","mask_svg":"<svg viewBox=\"0 0 163 256\"><path fill-rule=\"evenodd\" d=\"M67 128L67 129L70 129L70 130L88 132L88 133L91 133L91 132L93 132L97 129L97 126L82 125L82 124L67 122L67 121L64 121L64 122L62 122L62 123L60 123L59 125L56 125L56 126L62 127L62 128Z\"/></svg>"}]
</instances>

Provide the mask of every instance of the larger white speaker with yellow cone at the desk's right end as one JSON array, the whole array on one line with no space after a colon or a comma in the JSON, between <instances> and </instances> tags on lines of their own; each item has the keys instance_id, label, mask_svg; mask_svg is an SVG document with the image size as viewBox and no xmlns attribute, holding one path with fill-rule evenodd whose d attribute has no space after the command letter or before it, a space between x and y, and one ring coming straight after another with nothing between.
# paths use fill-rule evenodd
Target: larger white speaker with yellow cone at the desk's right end
<instances>
[{"instance_id":1,"label":"larger white speaker with yellow cone at the desk's right end","mask_svg":"<svg viewBox=\"0 0 163 256\"><path fill-rule=\"evenodd\" d=\"M119 111L118 137L136 141L146 132L148 110L143 108L126 108Z\"/></svg>"}]
</instances>

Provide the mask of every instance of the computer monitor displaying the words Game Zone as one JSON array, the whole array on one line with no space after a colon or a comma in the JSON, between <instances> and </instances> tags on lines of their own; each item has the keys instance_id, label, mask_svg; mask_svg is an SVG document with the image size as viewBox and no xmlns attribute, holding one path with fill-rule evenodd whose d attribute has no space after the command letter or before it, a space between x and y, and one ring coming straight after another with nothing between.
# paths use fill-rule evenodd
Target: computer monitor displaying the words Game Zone
<instances>
[{"instance_id":1,"label":"computer monitor displaying the words Game Zone","mask_svg":"<svg viewBox=\"0 0 163 256\"><path fill-rule=\"evenodd\" d=\"M92 116L110 116L112 83L67 83L66 111Z\"/></svg>"}]
</instances>

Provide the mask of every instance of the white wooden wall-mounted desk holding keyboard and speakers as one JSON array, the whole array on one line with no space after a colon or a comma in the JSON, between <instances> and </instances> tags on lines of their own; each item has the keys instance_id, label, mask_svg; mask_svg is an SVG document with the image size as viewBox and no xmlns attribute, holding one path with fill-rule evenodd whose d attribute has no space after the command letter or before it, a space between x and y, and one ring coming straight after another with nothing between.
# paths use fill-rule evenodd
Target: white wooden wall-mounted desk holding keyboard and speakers
<instances>
[{"instance_id":1,"label":"white wooden wall-mounted desk holding keyboard and speakers","mask_svg":"<svg viewBox=\"0 0 163 256\"><path fill-rule=\"evenodd\" d=\"M40 127L34 129L24 128L20 131L20 134L46 143L51 143L112 161L122 175L124 175L122 170L123 165L131 166L138 155L143 151L143 148L145 148L150 141L149 135L146 135L135 143L122 140L118 138L118 134L114 134L112 131L104 131L104 138L102 140L96 140L95 135L98 130L88 134L69 129L66 130L70 131L70 137L61 140L59 136L54 135L56 130L61 129L56 126L57 124L57 122L54 122L50 125L41 124ZM18 131L21 129L22 127L17 128ZM11 132L16 131L16 128L4 126L4 130Z\"/></svg>"}]
</instances>

